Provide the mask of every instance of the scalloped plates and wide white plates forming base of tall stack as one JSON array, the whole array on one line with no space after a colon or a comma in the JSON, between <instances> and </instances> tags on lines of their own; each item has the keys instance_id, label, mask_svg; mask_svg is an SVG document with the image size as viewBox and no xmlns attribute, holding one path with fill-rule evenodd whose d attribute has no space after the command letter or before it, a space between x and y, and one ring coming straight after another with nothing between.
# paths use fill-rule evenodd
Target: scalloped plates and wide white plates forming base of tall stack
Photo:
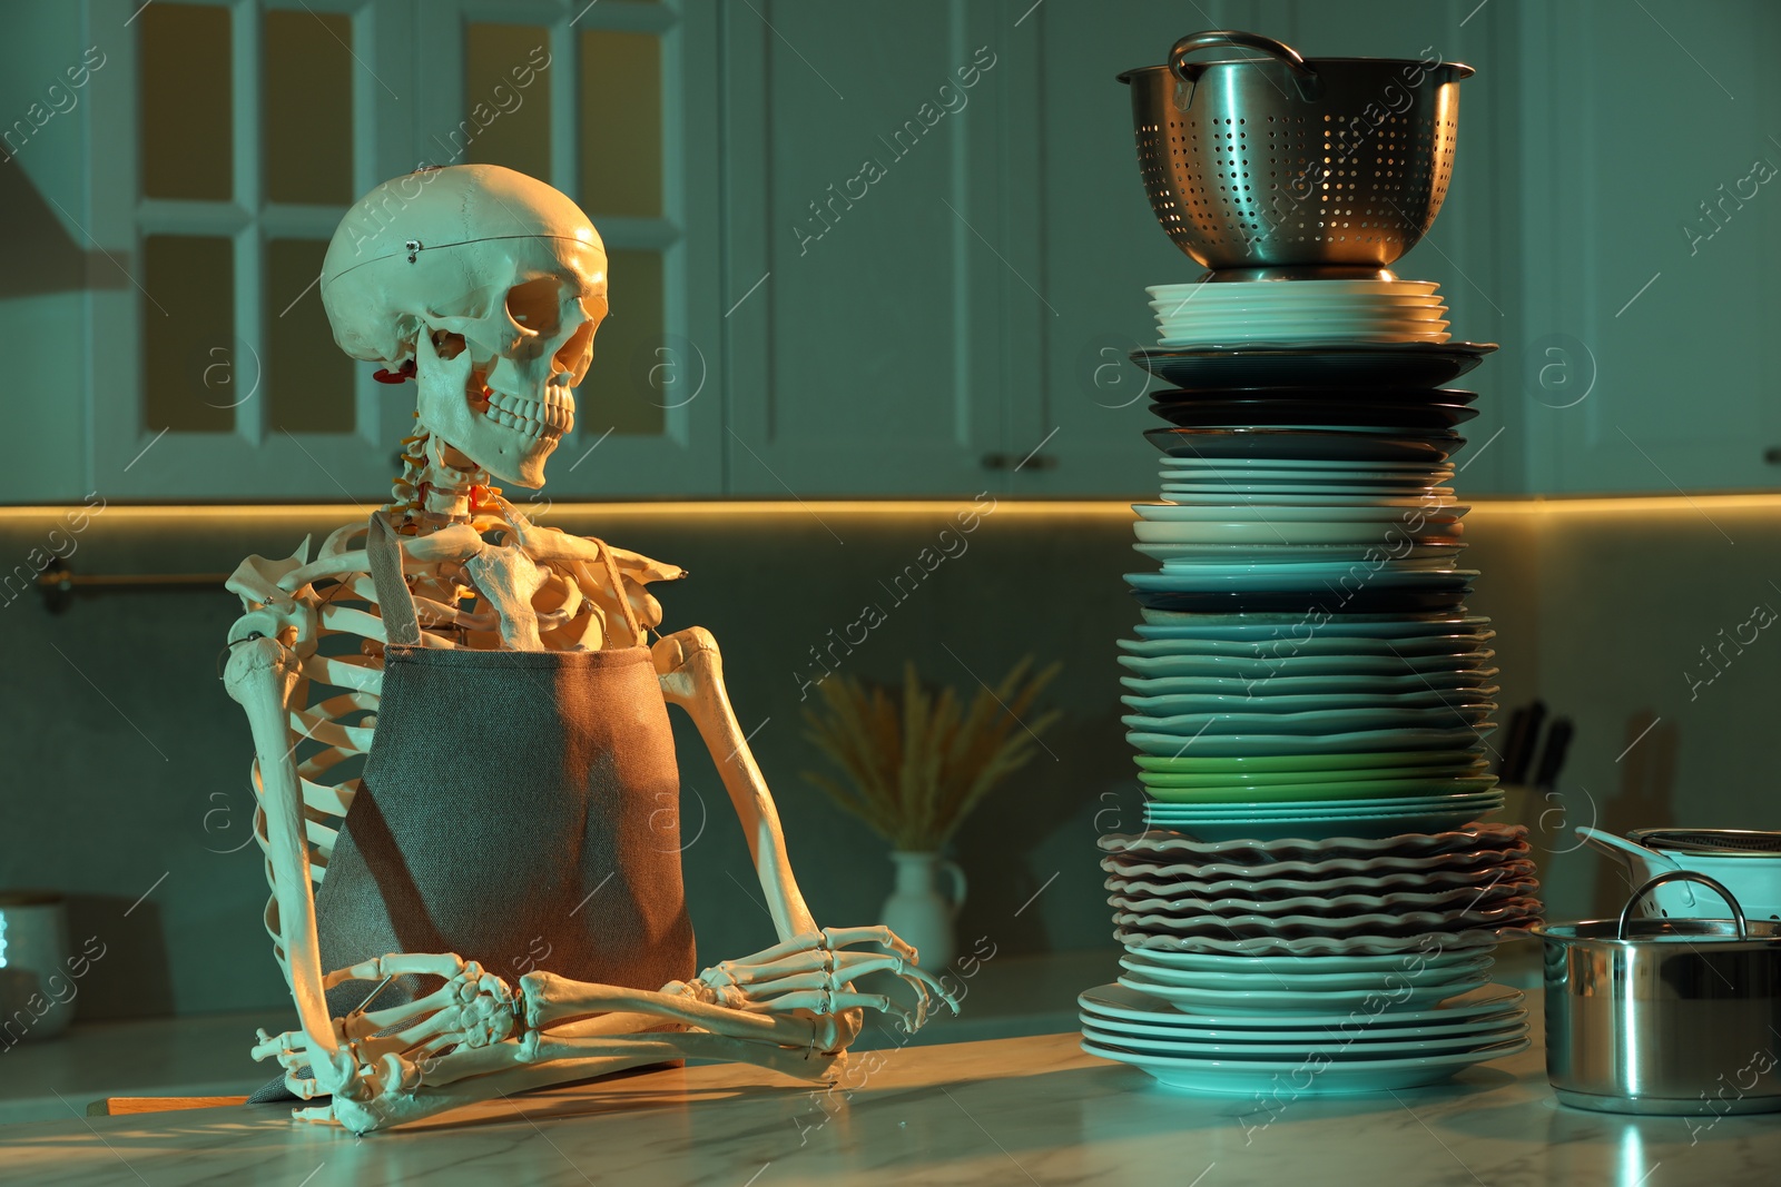
<instances>
[{"instance_id":1,"label":"scalloped plates and wide white plates forming base of tall stack","mask_svg":"<svg viewBox=\"0 0 1781 1187\"><path fill-rule=\"evenodd\" d=\"M1539 918L1526 829L1206 844L1104 836L1117 984L1078 998L1083 1046L1165 1084L1298 1094L1434 1084L1526 1046L1491 986Z\"/></svg>"}]
</instances>

